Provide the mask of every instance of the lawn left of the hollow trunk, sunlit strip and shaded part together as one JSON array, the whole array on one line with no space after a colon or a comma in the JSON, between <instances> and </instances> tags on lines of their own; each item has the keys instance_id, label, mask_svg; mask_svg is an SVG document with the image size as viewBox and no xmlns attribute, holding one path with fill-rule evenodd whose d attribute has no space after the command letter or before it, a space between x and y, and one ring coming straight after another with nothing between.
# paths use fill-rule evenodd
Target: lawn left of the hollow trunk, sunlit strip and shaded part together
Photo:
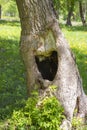
<instances>
[{"instance_id":1,"label":"lawn left of the hollow trunk, sunlit strip and shaded part together","mask_svg":"<svg viewBox=\"0 0 87 130\"><path fill-rule=\"evenodd\" d=\"M20 30L19 22L0 21L0 120L20 108L27 95L19 52Z\"/></svg>"}]
</instances>

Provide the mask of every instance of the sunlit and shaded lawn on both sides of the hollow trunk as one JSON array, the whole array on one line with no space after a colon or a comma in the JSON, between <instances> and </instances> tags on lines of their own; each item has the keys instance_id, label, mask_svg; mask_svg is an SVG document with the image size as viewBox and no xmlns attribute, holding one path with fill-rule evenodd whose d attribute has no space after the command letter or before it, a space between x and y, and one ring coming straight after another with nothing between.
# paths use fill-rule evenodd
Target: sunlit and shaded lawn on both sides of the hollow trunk
<instances>
[{"instance_id":1,"label":"sunlit and shaded lawn on both sides of the hollow trunk","mask_svg":"<svg viewBox=\"0 0 87 130\"><path fill-rule=\"evenodd\" d=\"M61 28L76 55L87 93L87 27ZM20 31L19 22L0 21L0 122L23 107L27 98L25 70L19 50Z\"/></svg>"}]
</instances>

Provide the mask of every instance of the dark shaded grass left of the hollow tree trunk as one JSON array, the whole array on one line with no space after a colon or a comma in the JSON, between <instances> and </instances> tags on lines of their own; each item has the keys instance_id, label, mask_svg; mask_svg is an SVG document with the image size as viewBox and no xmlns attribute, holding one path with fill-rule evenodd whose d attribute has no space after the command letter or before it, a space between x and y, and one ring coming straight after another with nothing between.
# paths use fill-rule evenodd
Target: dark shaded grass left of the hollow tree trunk
<instances>
[{"instance_id":1,"label":"dark shaded grass left of the hollow tree trunk","mask_svg":"<svg viewBox=\"0 0 87 130\"><path fill-rule=\"evenodd\" d=\"M5 120L25 105L27 91L18 41L0 39L0 43L0 120Z\"/></svg>"}]
</instances>

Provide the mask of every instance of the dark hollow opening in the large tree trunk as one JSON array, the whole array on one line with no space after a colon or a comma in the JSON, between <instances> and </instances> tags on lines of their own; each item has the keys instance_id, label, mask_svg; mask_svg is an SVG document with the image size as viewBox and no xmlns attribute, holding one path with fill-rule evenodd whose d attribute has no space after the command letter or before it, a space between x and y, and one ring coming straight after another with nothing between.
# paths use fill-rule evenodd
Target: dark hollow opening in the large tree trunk
<instances>
[{"instance_id":1,"label":"dark hollow opening in the large tree trunk","mask_svg":"<svg viewBox=\"0 0 87 130\"><path fill-rule=\"evenodd\" d=\"M52 51L50 56L35 56L38 70L43 79L53 81L58 68L58 55L56 51Z\"/></svg>"}]
</instances>

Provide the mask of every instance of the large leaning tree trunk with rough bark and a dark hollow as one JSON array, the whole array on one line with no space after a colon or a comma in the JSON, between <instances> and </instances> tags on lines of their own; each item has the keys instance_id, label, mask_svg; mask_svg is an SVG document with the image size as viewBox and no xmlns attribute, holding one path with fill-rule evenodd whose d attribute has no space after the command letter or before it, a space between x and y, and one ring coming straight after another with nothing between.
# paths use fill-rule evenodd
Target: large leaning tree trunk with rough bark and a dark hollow
<instances>
[{"instance_id":1,"label":"large leaning tree trunk with rough bark and a dark hollow","mask_svg":"<svg viewBox=\"0 0 87 130\"><path fill-rule=\"evenodd\" d=\"M55 95L64 107L67 120L71 121L77 101L78 113L85 115L87 103L80 75L54 15L52 1L16 2L22 28L20 49L29 95L33 90L45 91L49 85L56 85Z\"/></svg>"}]
</instances>

